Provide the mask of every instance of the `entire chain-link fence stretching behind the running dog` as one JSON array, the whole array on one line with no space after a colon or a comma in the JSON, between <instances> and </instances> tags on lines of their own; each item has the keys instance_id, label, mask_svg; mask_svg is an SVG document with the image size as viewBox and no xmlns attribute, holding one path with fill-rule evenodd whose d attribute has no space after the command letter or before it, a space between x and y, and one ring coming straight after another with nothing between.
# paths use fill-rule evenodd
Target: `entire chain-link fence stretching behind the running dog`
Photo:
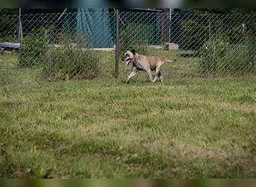
<instances>
[{"instance_id":1,"label":"entire chain-link fence stretching behind the running dog","mask_svg":"<svg viewBox=\"0 0 256 187\"><path fill-rule=\"evenodd\" d=\"M16 49L18 67L38 68L46 79L112 78L129 49L173 60L165 79L256 73L255 13L143 10L19 13L0 11L1 50ZM118 19L118 32L116 30ZM125 79L130 67L119 63Z\"/></svg>"}]
</instances>

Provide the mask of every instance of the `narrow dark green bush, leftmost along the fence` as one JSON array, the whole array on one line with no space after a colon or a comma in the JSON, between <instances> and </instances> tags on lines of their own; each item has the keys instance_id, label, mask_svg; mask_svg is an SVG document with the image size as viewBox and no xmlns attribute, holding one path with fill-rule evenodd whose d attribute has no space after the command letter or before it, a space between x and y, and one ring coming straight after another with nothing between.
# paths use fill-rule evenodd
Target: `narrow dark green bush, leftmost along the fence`
<instances>
[{"instance_id":1,"label":"narrow dark green bush, leftmost along the fence","mask_svg":"<svg viewBox=\"0 0 256 187\"><path fill-rule=\"evenodd\" d=\"M39 28L24 37L19 49L19 66L33 67L43 64L46 47L47 37L44 28Z\"/></svg>"}]
</instances>

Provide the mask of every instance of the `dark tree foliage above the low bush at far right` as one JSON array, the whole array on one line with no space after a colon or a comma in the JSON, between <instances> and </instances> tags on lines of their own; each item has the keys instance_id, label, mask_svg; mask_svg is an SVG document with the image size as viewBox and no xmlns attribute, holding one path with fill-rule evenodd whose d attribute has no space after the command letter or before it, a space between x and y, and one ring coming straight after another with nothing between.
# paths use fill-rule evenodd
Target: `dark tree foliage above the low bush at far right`
<instances>
[{"instance_id":1,"label":"dark tree foliage above the low bush at far right","mask_svg":"<svg viewBox=\"0 0 256 187\"><path fill-rule=\"evenodd\" d=\"M256 31L253 13L225 9L195 9L192 12L195 14L188 14L192 16L180 24L182 43L186 49L198 50L207 40L219 36L226 38L231 44L238 44L240 36L246 31Z\"/></svg>"}]
</instances>

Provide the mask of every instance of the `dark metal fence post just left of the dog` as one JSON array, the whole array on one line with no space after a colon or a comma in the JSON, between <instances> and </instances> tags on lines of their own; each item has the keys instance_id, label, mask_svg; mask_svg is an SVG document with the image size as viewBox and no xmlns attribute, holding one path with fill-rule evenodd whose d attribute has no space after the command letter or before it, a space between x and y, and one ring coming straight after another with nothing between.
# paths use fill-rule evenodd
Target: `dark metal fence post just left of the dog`
<instances>
[{"instance_id":1,"label":"dark metal fence post just left of the dog","mask_svg":"<svg viewBox=\"0 0 256 187\"><path fill-rule=\"evenodd\" d=\"M118 78L118 61L119 61L119 10L115 11L115 78Z\"/></svg>"}]
</instances>

